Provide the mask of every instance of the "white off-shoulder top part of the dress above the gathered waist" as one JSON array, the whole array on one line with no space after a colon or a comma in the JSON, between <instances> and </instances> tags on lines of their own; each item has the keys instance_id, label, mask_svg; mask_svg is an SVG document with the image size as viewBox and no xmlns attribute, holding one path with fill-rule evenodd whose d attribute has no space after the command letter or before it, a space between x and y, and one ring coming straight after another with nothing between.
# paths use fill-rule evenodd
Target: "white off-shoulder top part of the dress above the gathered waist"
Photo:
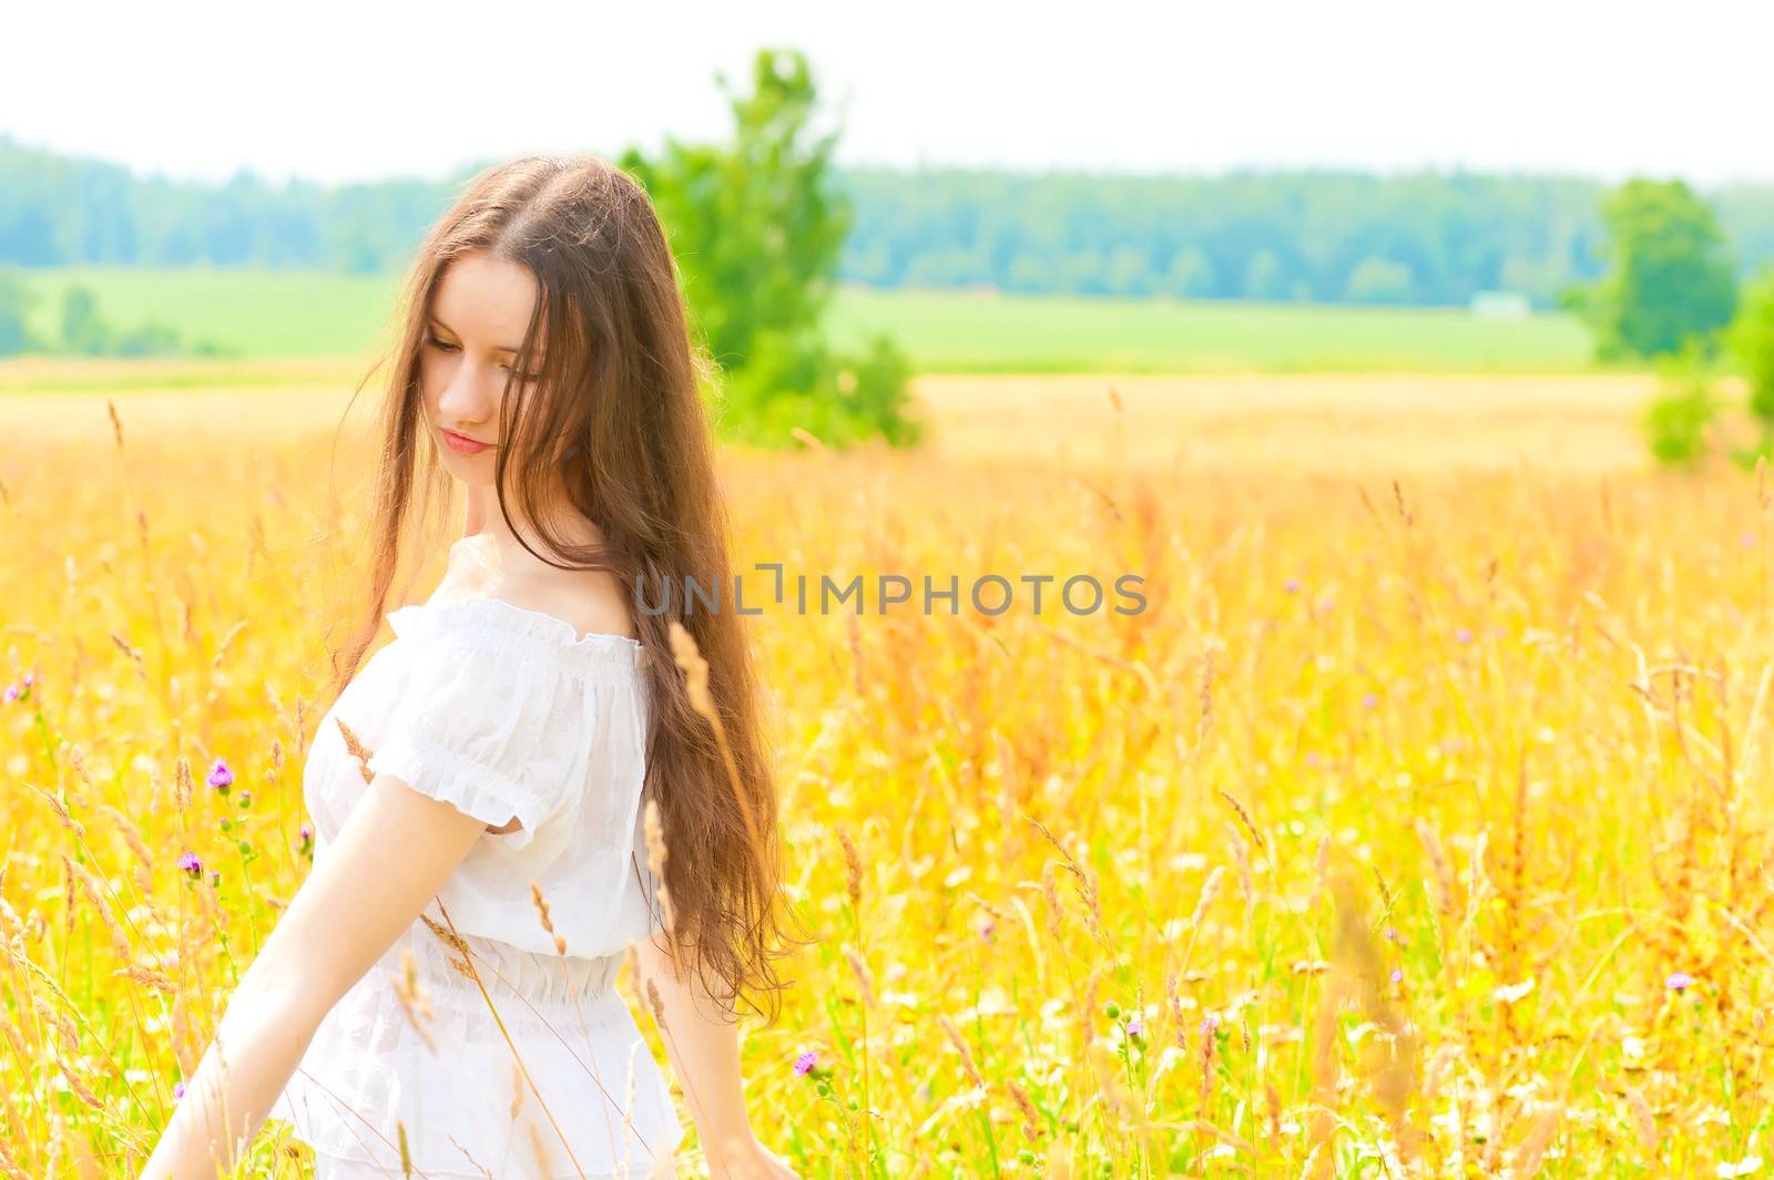
<instances>
[{"instance_id":1,"label":"white off-shoulder top part of the dress above the gathered waist","mask_svg":"<svg viewBox=\"0 0 1774 1180\"><path fill-rule=\"evenodd\" d=\"M644 872L640 643L577 636L561 618L488 597L408 606L389 622L396 659L373 695L351 702L369 772L488 827L518 822L484 833L438 891L458 930L552 955L536 882L568 953L596 959L646 937L656 882Z\"/></svg>"}]
</instances>

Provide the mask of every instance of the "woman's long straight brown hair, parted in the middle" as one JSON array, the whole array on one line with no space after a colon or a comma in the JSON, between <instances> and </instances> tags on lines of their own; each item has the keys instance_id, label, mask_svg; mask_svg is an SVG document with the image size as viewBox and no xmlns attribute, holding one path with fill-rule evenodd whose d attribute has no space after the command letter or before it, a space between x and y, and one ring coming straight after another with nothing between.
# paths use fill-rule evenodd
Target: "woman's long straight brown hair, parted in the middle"
<instances>
[{"instance_id":1,"label":"woman's long straight brown hair, parted in the middle","mask_svg":"<svg viewBox=\"0 0 1774 1180\"><path fill-rule=\"evenodd\" d=\"M679 592L690 578L701 586L731 583L729 519L699 390L706 358L692 345L653 204L614 165L596 156L523 156L488 168L420 245L403 291L397 344L383 358L390 383L369 523L369 606L334 656L332 695L355 675L381 627L401 535L413 526L447 528L444 516L428 514L429 505L447 507L451 477L426 429L419 361L436 282L452 259L474 250L516 262L538 282L511 367L538 379L507 377L493 473L498 510L513 524L516 505L552 556L530 549L514 524L513 533L543 562L612 571L630 586L653 588L649 609L637 611L651 703L644 792L660 808L674 943L704 985L713 971L734 998L768 996L775 1021L784 983L772 959L786 953L777 946L786 935L779 927L777 790L759 732L759 686L742 617L687 611ZM562 501L598 526L601 547L550 533L546 517ZM665 586L672 588L669 606L649 613L667 597ZM692 707L685 673L671 657L674 620L708 661L740 799L715 730ZM747 806L761 842L749 836Z\"/></svg>"}]
</instances>

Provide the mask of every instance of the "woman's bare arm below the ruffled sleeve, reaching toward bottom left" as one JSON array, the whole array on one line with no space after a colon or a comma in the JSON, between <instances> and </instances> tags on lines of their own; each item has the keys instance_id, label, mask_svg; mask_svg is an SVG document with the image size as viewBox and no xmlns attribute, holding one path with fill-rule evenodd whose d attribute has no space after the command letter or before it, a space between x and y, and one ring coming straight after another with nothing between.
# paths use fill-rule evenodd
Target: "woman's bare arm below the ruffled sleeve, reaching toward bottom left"
<instances>
[{"instance_id":1,"label":"woman's bare arm below the ruffled sleeve, reaching toward bottom left","mask_svg":"<svg viewBox=\"0 0 1774 1180\"><path fill-rule=\"evenodd\" d=\"M229 999L140 1180L234 1166L321 1019L394 946L484 824L378 774Z\"/></svg>"}]
</instances>

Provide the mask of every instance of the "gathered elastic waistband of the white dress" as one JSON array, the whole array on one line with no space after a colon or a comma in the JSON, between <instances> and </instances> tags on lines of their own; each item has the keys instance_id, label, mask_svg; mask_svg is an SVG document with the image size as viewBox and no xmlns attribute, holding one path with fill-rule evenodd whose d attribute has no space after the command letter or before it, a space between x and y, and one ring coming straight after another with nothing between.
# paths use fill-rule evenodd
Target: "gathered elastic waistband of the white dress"
<instances>
[{"instance_id":1,"label":"gathered elastic waistband of the white dress","mask_svg":"<svg viewBox=\"0 0 1774 1180\"><path fill-rule=\"evenodd\" d=\"M470 950L475 974L486 990L497 999L502 994L522 996L525 1003L538 1008L573 1008L616 990L616 976L623 969L626 955L539 955L536 951L511 946L497 939L458 935ZM413 967L422 978L433 999L451 1003L459 1001L474 1008L484 1006L475 982L452 966L461 955L442 939L424 928L417 928L410 941L397 943L381 959L380 971L399 978L404 973L403 948L413 950Z\"/></svg>"}]
</instances>

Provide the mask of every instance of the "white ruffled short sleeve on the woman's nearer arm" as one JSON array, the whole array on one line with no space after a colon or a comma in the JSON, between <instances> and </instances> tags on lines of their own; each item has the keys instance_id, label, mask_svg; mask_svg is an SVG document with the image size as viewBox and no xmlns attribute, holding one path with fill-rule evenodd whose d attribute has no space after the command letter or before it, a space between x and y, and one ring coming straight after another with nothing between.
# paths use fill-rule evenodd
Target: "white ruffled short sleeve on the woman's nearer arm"
<instances>
[{"instance_id":1,"label":"white ruffled short sleeve on the woman's nearer arm","mask_svg":"<svg viewBox=\"0 0 1774 1180\"><path fill-rule=\"evenodd\" d=\"M436 627L417 648L367 767L529 845L577 788L584 686L500 633Z\"/></svg>"}]
</instances>

